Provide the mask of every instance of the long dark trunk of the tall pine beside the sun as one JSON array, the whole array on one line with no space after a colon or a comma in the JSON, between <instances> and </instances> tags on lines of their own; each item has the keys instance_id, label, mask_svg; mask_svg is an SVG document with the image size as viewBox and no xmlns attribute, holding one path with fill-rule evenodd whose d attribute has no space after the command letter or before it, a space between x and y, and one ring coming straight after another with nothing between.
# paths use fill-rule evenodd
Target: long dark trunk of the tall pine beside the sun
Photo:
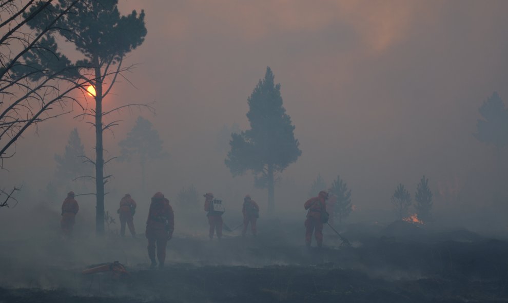
<instances>
[{"instance_id":1,"label":"long dark trunk of the tall pine beside the sun","mask_svg":"<svg viewBox=\"0 0 508 303\"><path fill-rule=\"evenodd\" d=\"M95 66L99 60L94 58ZM104 236L104 155L102 143L102 80L101 69L95 68L95 234Z\"/></svg>"}]
</instances>

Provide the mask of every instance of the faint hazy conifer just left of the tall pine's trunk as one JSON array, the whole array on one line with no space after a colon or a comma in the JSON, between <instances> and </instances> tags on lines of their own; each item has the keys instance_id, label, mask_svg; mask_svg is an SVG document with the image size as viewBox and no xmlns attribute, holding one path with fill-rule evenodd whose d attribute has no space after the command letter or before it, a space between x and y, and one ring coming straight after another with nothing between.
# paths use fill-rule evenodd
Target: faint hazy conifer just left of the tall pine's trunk
<instances>
[{"instance_id":1,"label":"faint hazy conifer just left of the tall pine's trunk","mask_svg":"<svg viewBox=\"0 0 508 303\"><path fill-rule=\"evenodd\" d=\"M56 178L60 182L68 183L77 177L91 174L90 166L83 162L84 157L85 147L81 144L77 128L74 128L69 135L64 154L55 155Z\"/></svg>"}]
</instances>

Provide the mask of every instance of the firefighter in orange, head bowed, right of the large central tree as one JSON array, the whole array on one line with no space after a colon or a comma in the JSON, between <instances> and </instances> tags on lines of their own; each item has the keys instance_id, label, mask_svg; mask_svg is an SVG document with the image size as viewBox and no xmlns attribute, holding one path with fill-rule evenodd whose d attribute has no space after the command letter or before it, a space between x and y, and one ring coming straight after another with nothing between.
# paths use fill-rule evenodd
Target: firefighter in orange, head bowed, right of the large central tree
<instances>
[{"instance_id":1,"label":"firefighter in orange, head bowed, right of the large central tree","mask_svg":"<svg viewBox=\"0 0 508 303\"><path fill-rule=\"evenodd\" d=\"M307 247L310 247L312 242L312 232L314 232L318 247L323 245L323 223L321 221L321 212L326 211L327 197L328 194L322 191L317 197L308 199L304 204L305 209L309 210L307 213L307 219L305 220L305 245L307 245Z\"/></svg>"}]
</instances>

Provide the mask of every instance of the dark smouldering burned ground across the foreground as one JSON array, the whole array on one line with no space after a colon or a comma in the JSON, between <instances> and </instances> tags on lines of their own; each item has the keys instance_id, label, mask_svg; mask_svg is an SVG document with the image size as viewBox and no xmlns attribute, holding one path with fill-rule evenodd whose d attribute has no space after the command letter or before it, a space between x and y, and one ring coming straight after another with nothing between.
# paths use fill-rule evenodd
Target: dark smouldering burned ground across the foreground
<instances>
[{"instance_id":1,"label":"dark smouldering burned ground across the foreground","mask_svg":"<svg viewBox=\"0 0 508 303\"><path fill-rule=\"evenodd\" d=\"M278 232L265 226L258 238L229 233L221 243L175 237L164 270L147 269L142 237L37 237L23 251L2 241L0 302L508 301L503 239L397 222L343 227L351 247L327 230L326 247L307 250L301 227L272 225ZM113 260L130 274L81 274Z\"/></svg>"}]
</instances>

